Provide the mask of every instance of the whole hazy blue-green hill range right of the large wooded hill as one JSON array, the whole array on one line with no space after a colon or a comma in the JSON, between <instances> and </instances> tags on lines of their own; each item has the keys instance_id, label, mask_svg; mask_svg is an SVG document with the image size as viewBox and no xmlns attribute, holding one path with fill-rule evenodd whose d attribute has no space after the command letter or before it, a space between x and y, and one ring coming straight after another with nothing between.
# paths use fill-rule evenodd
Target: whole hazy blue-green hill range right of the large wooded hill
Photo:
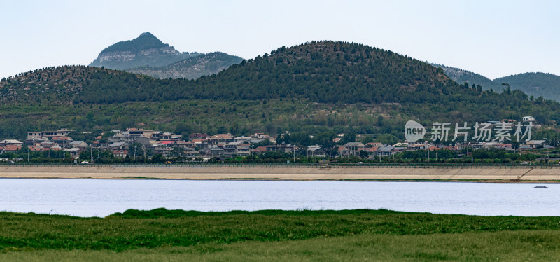
<instances>
[{"instance_id":1,"label":"whole hazy blue-green hill range right of the large wooded hill","mask_svg":"<svg viewBox=\"0 0 560 262\"><path fill-rule=\"evenodd\" d=\"M469 85L482 85L483 90L493 89L501 91L505 89L502 83L510 85L512 90L521 90L529 96L552 99L560 102L560 76L545 73L524 73L512 76L505 76L490 80L470 71L455 67L446 67L442 64L434 64L434 67L441 67L449 78L457 83L468 83Z\"/></svg>"}]
</instances>

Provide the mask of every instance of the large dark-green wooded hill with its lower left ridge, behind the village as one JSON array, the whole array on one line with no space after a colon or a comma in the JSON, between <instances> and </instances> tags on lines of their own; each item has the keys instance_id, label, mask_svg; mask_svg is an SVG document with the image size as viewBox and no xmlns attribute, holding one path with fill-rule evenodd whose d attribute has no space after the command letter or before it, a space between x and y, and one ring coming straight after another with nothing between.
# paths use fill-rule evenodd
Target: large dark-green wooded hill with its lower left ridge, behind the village
<instances>
[{"instance_id":1,"label":"large dark-green wooded hill with its lower left ridge, behind the village","mask_svg":"<svg viewBox=\"0 0 560 262\"><path fill-rule=\"evenodd\" d=\"M425 126L523 116L560 121L557 102L472 88L407 55L335 41L281 47L193 80L97 67L38 69L4 78L0 97L0 137L64 126L235 135L351 131L396 141L411 119Z\"/></svg>"}]
</instances>

